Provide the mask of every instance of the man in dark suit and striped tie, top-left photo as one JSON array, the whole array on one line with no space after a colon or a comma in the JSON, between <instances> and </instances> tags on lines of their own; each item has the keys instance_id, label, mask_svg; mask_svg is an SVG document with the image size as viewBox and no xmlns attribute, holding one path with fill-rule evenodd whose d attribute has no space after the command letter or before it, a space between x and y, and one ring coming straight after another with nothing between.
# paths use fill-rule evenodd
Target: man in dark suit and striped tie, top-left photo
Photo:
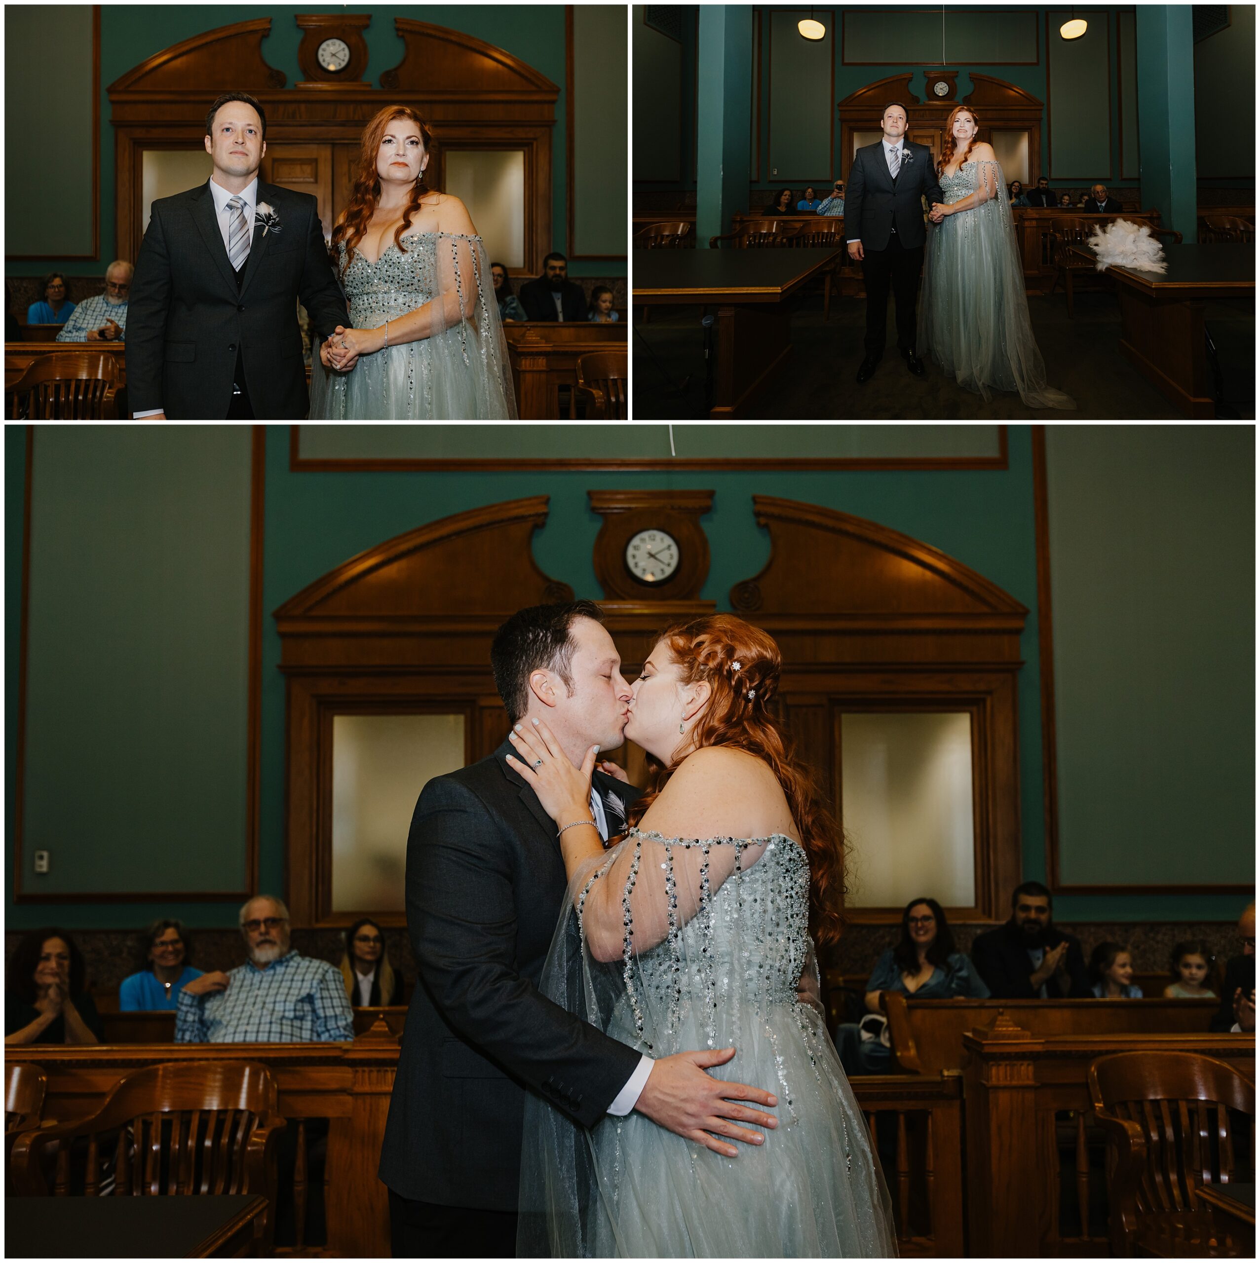
<instances>
[{"instance_id":1,"label":"man in dark suit and striped tie, top-left photo","mask_svg":"<svg viewBox=\"0 0 1260 1263\"><path fill-rule=\"evenodd\" d=\"M140 245L126 330L133 414L301 421L298 301L324 337L346 322L318 206L259 182L267 119L245 92L210 107L206 153L209 182L155 201Z\"/></svg>"}]
</instances>

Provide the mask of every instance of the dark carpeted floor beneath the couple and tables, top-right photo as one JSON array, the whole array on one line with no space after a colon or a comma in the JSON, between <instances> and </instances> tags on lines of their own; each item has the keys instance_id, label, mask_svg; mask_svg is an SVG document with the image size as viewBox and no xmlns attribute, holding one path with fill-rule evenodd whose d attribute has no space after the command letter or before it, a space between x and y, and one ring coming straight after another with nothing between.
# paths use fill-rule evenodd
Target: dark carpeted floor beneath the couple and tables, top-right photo
<instances>
[{"instance_id":1,"label":"dark carpeted floor beneath the couple and tables, top-right photo","mask_svg":"<svg viewBox=\"0 0 1260 1263\"><path fill-rule=\"evenodd\" d=\"M636 309L637 312L637 309ZM1107 293L1077 297L1068 320L1062 293L1029 298L1033 332L1045 357L1049 385L1067 392L1077 412L1026 408L1016 394L984 400L963 390L934 364L912 378L895 347L873 378L854 380L862 362L866 299L832 299L823 323L821 296L806 297L792 316L792 356L743 413L763 421L1161 421L1185 419L1120 350L1120 308ZM636 421L704 419L704 330L699 307L655 307L651 322L636 320L632 416ZM1225 381L1222 419L1255 417L1255 308L1250 302L1207 304L1207 327ZM667 379L672 379L672 385ZM685 388L681 388L686 379Z\"/></svg>"}]
</instances>

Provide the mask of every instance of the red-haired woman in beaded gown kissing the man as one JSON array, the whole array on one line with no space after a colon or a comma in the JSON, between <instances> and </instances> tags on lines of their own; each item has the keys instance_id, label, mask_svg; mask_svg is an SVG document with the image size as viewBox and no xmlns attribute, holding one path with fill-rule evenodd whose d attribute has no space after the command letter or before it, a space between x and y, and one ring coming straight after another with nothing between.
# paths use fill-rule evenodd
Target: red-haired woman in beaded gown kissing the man
<instances>
[{"instance_id":1,"label":"red-haired woman in beaded gown kissing the man","mask_svg":"<svg viewBox=\"0 0 1260 1263\"><path fill-rule=\"evenodd\" d=\"M569 898L541 990L652 1057L737 1050L725 1070L778 1096L760 1146L690 1139L631 1113L594 1129L526 1104L518 1253L881 1257L887 1188L828 1036L811 936L838 937L842 860L768 702L778 647L730 615L669 630L636 681L626 736L651 789L604 851L598 751L575 768L543 725L513 768L555 818ZM576 822L576 823L575 823Z\"/></svg>"}]
</instances>

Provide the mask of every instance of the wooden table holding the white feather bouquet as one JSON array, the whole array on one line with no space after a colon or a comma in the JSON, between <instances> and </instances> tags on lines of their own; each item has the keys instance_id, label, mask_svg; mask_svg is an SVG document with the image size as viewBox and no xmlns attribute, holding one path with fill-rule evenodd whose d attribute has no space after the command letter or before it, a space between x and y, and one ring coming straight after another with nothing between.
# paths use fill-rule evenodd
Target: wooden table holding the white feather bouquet
<instances>
[{"instance_id":1,"label":"wooden table holding the white feather bouquet","mask_svg":"<svg viewBox=\"0 0 1260 1263\"><path fill-rule=\"evenodd\" d=\"M1093 260L1087 246L1073 253ZM1168 270L1107 268L1120 296L1121 349L1187 417L1212 421L1203 328L1207 298L1255 298L1256 254L1250 245L1166 245Z\"/></svg>"}]
</instances>

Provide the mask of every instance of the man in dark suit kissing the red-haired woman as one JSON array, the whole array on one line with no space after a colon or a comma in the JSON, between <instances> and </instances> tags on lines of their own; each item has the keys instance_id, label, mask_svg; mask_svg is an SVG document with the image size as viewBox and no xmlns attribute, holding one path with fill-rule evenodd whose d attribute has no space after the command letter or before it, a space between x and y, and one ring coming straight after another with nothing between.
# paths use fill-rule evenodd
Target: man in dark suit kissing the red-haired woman
<instances>
[{"instance_id":1,"label":"man in dark suit kissing the red-haired woman","mask_svg":"<svg viewBox=\"0 0 1260 1263\"><path fill-rule=\"evenodd\" d=\"M579 763L622 744L629 688L591 601L513 614L490 650L512 722L546 721ZM556 825L504 743L430 781L407 839L407 928L420 973L389 1101L380 1180L394 1258L516 1253L527 1091L583 1127L631 1110L736 1156L739 1124L773 1128L756 1087L706 1067L733 1048L652 1060L545 999L537 983L565 899ZM638 791L597 770L590 810L607 839ZM719 1133L713 1135L710 1133ZM772 1143L767 1139L767 1143Z\"/></svg>"}]
</instances>

